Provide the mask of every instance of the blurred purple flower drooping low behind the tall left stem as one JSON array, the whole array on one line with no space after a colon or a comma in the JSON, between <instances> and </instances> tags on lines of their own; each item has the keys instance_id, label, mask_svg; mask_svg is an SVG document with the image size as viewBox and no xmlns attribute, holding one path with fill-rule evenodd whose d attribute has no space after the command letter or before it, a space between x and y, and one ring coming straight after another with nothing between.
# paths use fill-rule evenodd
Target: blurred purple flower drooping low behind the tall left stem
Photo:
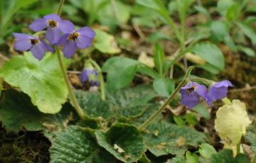
<instances>
[{"instance_id":1,"label":"blurred purple flower drooping low behind the tall left stem","mask_svg":"<svg viewBox=\"0 0 256 163\"><path fill-rule=\"evenodd\" d=\"M100 86L100 82L97 81L98 72L95 69L83 69L80 74L82 83L89 81L92 86Z\"/></svg>"}]
</instances>

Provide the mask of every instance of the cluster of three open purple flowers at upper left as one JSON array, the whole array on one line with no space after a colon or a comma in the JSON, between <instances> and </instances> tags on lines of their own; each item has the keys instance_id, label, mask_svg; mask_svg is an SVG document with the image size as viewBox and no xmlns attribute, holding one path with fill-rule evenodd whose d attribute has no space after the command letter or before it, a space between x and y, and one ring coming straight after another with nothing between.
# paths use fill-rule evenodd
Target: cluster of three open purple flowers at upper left
<instances>
[{"instance_id":1,"label":"cluster of three open purple flowers at upper left","mask_svg":"<svg viewBox=\"0 0 256 163\"><path fill-rule=\"evenodd\" d=\"M86 48L92 45L95 38L95 31L85 26L80 30L75 30L75 26L68 20L63 20L55 13L39 18L29 25L34 32L46 30L46 40L51 45L63 45L65 57L72 57L78 48ZM53 47L44 40L32 35L14 33L17 39L14 49L19 51L31 50L34 57L38 60L46 55L46 50L53 52Z\"/></svg>"}]
</instances>

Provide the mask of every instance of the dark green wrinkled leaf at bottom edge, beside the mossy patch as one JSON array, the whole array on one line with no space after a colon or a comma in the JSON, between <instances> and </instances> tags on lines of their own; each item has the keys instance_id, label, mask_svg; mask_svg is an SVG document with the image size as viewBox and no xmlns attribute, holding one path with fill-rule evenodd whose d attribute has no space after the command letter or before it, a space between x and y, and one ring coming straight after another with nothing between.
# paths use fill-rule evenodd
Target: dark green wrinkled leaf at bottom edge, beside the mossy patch
<instances>
[{"instance_id":1,"label":"dark green wrinkled leaf at bottom edge, beside the mossy patch","mask_svg":"<svg viewBox=\"0 0 256 163\"><path fill-rule=\"evenodd\" d=\"M78 126L69 126L66 130L49 137L50 162L107 162L114 163L112 155L97 146L90 130L81 130Z\"/></svg>"}]
</instances>

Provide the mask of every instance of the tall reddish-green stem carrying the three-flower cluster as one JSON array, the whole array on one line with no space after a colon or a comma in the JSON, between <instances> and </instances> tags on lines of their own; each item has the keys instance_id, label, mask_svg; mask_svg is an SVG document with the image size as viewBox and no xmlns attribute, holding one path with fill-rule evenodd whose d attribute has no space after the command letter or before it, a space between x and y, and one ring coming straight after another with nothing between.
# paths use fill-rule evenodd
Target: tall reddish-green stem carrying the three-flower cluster
<instances>
[{"instance_id":1,"label":"tall reddish-green stem carrying the three-flower cluster","mask_svg":"<svg viewBox=\"0 0 256 163\"><path fill-rule=\"evenodd\" d=\"M58 6L58 12L57 12L58 16L60 16L60 14L61 14L64 1L65 0L60 0L60 4ZM67 74L66 69L65 69L64 64L63 64L63 58L62 58L62 55L60 54L60 47L59 46L56 47L56 53L57 53L57 56L58 56L58 63L60 65L60 70L63 74L64 81L65 81L65 84L68 88L68 93L70 95L70 100L72 101L73 106L75 107L75 111L78 113L80 118L88 119L89 116L87 116L85 113L83 113L82 108L80 108L80 106L79 106L78 100L75 98L75 94L74 94L73 89L71 87L70 81L68 80L68 74Z\"/></svg>"}]
</instances>

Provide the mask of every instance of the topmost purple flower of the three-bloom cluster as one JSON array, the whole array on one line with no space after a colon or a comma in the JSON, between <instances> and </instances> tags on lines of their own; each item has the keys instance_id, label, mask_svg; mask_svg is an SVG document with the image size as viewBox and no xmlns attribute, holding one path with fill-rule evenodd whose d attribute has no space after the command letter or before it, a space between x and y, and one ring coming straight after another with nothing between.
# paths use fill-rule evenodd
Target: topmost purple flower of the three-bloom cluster
<instances>
[{"instance_id":1,"label":"topmost purple flower of the three-bloom cluster","mask_svg":"<svg viewBox=\"0 0 256 163\"><path fill-rule=\"evenodd\" d=\"M29 28L35 32L47 28L46 39L51 44L58 43L58 40L60 40L61 37L61 32L71 33L73 30L75 30L73 23L67 20L62 20L60 16L55 13L43 16L43 18L38 18L38 20L31 23Z\"/></svg>"}]
</instances>

